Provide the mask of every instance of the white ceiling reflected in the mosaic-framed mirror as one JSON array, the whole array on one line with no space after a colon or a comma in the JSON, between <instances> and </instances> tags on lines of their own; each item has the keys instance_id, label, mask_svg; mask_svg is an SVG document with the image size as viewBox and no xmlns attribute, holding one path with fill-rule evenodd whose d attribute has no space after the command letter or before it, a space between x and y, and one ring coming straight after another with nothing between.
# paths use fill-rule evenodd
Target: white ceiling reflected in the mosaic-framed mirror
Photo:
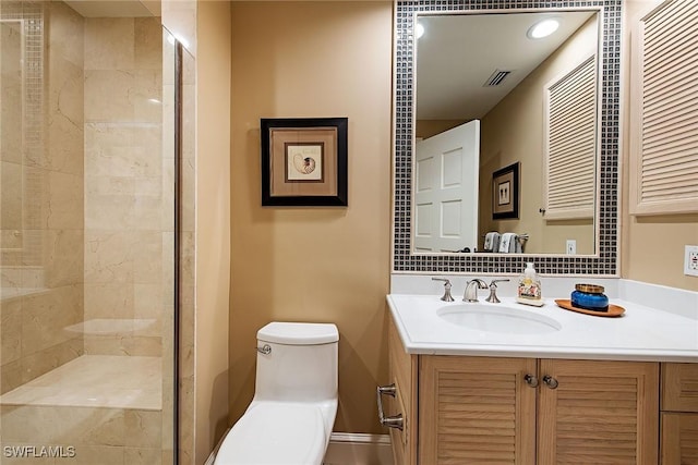
<instances>
[{"instance_id":1,"label":"white ceiling reflected in the mosaic-framed mirror","mask_svg":"<svg viewBox=\"0 0 698 465\"><path fill-rule=\"evenodd\" d=\"M593 11L422 15L417 49L417 119L480 119L555 51ZM543 17L561 20L556 33L529 39ZM483 87L495 70L513 73L497 87Z\"/></svg>"}]
</instances>

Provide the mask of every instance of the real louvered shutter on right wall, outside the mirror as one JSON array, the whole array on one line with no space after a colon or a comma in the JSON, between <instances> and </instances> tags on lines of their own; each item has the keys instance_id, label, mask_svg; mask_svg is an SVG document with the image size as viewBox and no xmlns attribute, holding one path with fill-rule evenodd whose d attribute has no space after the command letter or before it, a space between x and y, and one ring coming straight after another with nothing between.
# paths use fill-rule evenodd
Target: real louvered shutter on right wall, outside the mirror
<instances>
[{"instance_id":1,"label":"real louvered shutter on right wall, outside the mirror","mask_svg":"<svg viewBox=\"0 0 698 465\"><path fill-rule=\"evenodd\" d=\"M633 98L634 213L698 211L698 1L665 1L640 20ZM639 54L638 54L639 53ZM638 147L639 145L639 147Z\"/></svg>"}]
</instances>

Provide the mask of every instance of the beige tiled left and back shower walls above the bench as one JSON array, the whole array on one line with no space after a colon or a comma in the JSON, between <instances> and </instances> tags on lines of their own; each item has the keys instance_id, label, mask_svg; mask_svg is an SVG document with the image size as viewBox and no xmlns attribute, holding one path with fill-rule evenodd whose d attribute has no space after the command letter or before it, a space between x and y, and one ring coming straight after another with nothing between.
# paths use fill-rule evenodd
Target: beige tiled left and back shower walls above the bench
<instances>
[{"instance_id":1,"label":"beige tiled left and back shower walls above the bench","mask_svg":"<svg viewBox=\"0 0 698 465\"><path fill-rule=\"evenodd\" d=\"M164 284L163 250L171 256L172 249L163 175L171 181L172 173L164 173L171 160L164 163L161 151L159 19L83 19L62 2L3 1L1 8L3 20L37 9L34 24L46 35L38 44L47 44L37 60L45 69L32 69L43 76L39 94L27 97L47 115L38 117L40 145L27 149L25 140L22 150L22 140L2 137L3 186L12 180L24 194L20 211L3 208L3 237L24 240L23 247L2 241L3 289L45 287L2 302L3 393L83 353L161 355L161 315L171 305L164 299L163 286L171 283ZM19 30L12 36L19 40ZM2 44L11 47L11 38ZM23 121L23 107L4 105L10 96L3 97L3 111L17 113L3 121ZM39 240L29 247L29 237ZM34 268L43 274L32 276L38 284L25 282ZM137 319L143 329L127 323L122 332L84 339L67 330L103 318Z\"/></svg>"}]
</instances>

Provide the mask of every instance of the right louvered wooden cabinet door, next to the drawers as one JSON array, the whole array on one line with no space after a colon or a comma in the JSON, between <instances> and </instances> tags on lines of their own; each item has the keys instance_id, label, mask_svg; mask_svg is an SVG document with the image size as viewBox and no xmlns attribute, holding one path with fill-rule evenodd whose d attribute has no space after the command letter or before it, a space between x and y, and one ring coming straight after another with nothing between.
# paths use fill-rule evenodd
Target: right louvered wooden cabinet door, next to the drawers
<instances>
[{"instance_id":1,"label":"right louvered wooden cabinet door, next to the drawers","mask_svg":"<svg viewBox=\"0 0 698 465\"><path fill-rule=\"evenodd\" d=\"M543 359L538 465L658 463L659 364Z\"/></svg>"}]
</instances>

